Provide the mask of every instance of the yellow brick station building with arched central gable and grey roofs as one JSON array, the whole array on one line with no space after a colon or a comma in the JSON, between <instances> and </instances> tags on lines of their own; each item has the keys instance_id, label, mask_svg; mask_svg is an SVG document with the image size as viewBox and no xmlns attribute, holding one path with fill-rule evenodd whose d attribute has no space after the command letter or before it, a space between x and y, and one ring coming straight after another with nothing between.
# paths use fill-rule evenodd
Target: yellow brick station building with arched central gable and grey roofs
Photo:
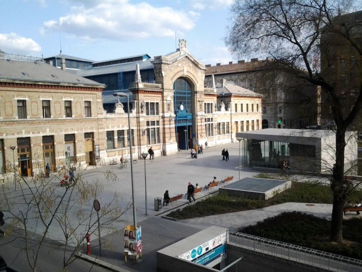
<instances>
[{"instance_id":1,"label":"yellow brick station building with arched central gable and grey roofs","mask_svg":"<svg viewBox=\"0 0 362 272\"><path fill-rule=\"evenodd\" d=\"M175 52L149 59L153 82L142 82L144 62L127 63L135 71L128 88L135 158L151 146L155 156L171 155L205 142L235 142L240 127L261 128L261 95L226 81L205 88L205 65L185 40ZM13 161L20 175L31 176L47 163L52 170L64 163L86 168L128 156L127 103L109 102L106 92L120 90L106 87L43 61L0 56L0 181ZM104 109L110 103L113 112Z\"/></svg>"}]
</instances>

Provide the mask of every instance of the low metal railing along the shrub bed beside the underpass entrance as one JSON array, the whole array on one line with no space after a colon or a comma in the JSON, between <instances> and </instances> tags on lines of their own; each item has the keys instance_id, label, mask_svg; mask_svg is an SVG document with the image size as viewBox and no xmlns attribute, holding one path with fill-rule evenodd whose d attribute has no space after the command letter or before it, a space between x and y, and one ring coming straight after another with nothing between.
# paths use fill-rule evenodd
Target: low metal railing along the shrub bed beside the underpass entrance
<instances>
[{"instance_id":1,"label":"low metal railing along the shrub bed beside the underpass entrance","mask_svg":"<svg viewBox=\"0 0 362 272\"><path fill-rule=\"evenodd\" d=\"M301 266L310 266L330 271L362 271L362 260L332 254L312 248L297 246L245 233L228 231L229 245L254 254L279 258Z\"/></svg>"}]
</instances>

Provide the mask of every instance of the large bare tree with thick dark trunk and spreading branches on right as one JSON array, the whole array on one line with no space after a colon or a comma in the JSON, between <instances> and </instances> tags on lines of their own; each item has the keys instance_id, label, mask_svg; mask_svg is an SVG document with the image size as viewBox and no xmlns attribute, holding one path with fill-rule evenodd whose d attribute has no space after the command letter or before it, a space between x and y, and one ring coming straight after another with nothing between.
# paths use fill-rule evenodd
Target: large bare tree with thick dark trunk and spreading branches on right
<instances>
[{"instance_id":1,"label":"large bare tree with thick dark trunk and spreading branches on right","mask_svg":"<svg viewBox=\"0 0 362 272\"><path fill-rule=\"evenodd\" d=\"M361 26L355 20L345 24L342 17L353 11L353 4L346 0L236 0L225 39L234 54L258 52L289 67L296 77L320 86L336 125L336 164L330 182L333 191L330 239L335 242L342 241L343 205L350 190L344 178L345 134L362 106L362 84L356 81L353 102L345 107L345 92L340 84L330 80L327 71L321 70L325 61L321 56L328 51L331 41L323 37L333 37L341 41L339 46L352 47L361 60L362 48L357 39L361 38ZM356 76L360 75L359 72Z\"/></svg>"}]
</instances>

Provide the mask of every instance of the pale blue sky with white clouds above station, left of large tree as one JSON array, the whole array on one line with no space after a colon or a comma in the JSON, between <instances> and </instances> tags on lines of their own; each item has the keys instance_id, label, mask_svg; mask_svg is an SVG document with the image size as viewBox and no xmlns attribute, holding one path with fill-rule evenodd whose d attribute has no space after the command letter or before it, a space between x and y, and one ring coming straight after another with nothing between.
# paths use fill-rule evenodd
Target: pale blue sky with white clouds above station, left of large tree
<instances>
[{"instance_id":1,"label":"pale blue sky with white clouds above station, left of large tree","mask_svg":"<svg viewBox=\"0 0 362 272\"><path fill-rule=\"evenodd\" d=\"M236 59L224 37L233 0L0 0L0 50L100 61L175 51L204 64Z\"/></svg>"}]
</instances>

